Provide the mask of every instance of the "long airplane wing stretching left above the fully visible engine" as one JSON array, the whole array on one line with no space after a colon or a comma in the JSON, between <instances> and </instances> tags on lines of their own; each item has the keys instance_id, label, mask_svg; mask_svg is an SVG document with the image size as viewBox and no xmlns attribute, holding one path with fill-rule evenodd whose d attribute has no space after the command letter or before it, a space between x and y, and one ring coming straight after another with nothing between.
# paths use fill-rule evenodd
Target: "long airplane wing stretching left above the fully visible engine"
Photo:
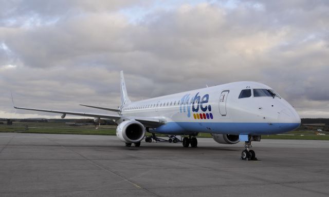
<instances>
[{"instance_id":1,"label":"long airplane wing stretching left above the fully visible engine","mask_svg":"<svg viewBox=\"0 0 329 197\"><path fill-rule=\"evenodd\" d=\"M85 113L85 112L74 112L74 111L57 111L57 110L47 110L47 109L34 109L34 108L25 108L25 107L15 107L15 109L24 109L24 110L31 110L31 111L43 111L43 112L50 112L50 113L61 113L61 114L69 114L69 115L79 115L79 116L86 116L86 117L100 117L102 119L111 119L111 120L119 120L119 119L127 119L127 120L136 120L142 123L146 127L155 128L166 124L165 121L160 119L154 119L150 117L134 117L134 116L123 116L123 115L108 115L108 114L96 114L96 113ZM65 117L65 116L64 116Z\"/></svg>"}]
</instances>

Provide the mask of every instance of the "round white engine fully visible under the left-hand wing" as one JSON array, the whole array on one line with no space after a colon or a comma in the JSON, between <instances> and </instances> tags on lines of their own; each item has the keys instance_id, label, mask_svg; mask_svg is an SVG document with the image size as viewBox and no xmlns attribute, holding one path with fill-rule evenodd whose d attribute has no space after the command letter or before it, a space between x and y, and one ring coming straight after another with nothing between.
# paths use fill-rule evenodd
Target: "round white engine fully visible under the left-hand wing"
<instances>
[{"instance_id":1,"label":"round white engine fully visible under the left-hand wing","mask_svg":"<svg viewBox=\"0 0 329 197\"><path fill-rule=\"evenodd\" d=\"M145 136L145 127L138 121L123 121L117 127L119 140L125 143L138 143Z\"/></svg>"}]
</instances>

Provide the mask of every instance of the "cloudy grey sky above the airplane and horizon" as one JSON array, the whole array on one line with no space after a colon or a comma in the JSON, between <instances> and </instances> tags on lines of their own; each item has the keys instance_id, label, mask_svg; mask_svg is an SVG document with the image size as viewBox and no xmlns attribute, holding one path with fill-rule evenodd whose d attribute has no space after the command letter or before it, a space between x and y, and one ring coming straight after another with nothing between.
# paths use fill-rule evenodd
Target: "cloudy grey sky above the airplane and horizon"
<instances>
[{"instance_id":1,"label":"cloudy grey sky above the airplane and horizon","mask_svg":"<svg viewBox=\"0 0 329 197\"><path fill-rule=\"evenodd\" d=\"M236 81L329 118L329 1L0 0L0 117L117 108ZM74 116L77 117L77 116Z\"/></svg>"}]
</instances>

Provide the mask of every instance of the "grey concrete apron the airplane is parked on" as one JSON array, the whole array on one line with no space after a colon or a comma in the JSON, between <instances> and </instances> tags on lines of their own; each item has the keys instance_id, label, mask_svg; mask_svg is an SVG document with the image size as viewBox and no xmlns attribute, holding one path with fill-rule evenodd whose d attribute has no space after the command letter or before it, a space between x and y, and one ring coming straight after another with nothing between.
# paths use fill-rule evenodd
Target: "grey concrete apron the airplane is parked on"
<instances>
[{"instance_id":1,"label":"grey concrete apron the airplane is parked on","mask_svg":"<svg viewBox=\"0 0 329 197\"><path fill-rule=\"evenodd\" d=\"M116 136L0 133L0 196L328 196L329 141L198 148Z\"/></svg>"}]
</instances>

